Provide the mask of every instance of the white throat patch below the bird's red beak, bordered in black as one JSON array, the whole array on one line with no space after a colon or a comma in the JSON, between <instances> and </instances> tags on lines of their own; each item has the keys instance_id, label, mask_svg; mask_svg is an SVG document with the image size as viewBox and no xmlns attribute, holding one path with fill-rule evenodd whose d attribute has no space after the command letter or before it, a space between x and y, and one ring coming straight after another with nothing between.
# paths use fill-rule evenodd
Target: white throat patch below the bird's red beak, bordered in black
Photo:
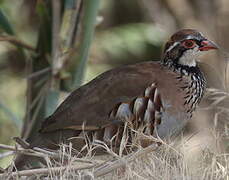
<instances>
[{"instance_id":1,"label":"white throat patch below the bird's red beak, bordered in black","mask_svg":"<svg viewBox=\"0 0 229 180\"><path fill-rule=\"evenodd\" d=\"M184 52L184 54L179 59L179 64L185 65L185 66L196 66L196 60L197 57L201 54L201 51L198 47L195 47L193 49L189 49Z\"/></svg>"}]
</instances>

